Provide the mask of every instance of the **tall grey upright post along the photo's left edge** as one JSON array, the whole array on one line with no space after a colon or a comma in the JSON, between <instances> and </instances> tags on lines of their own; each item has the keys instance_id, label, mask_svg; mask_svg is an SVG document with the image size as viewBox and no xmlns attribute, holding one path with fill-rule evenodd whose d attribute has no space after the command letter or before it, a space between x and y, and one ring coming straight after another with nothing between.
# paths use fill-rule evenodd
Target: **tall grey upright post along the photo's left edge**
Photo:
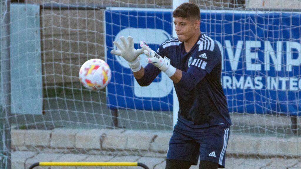
<instances>
[{"instance_id":1,"label":"tall grey upright post along the photo's left edge","mask_svg":"<svg viewBox=\"0 0 301 169\"><path fill-rule=\"evenodd\" d=\"M0 165L11 168L11 75L10 75L10 1L0 1Z\"/></svg>"}]
</instances>

